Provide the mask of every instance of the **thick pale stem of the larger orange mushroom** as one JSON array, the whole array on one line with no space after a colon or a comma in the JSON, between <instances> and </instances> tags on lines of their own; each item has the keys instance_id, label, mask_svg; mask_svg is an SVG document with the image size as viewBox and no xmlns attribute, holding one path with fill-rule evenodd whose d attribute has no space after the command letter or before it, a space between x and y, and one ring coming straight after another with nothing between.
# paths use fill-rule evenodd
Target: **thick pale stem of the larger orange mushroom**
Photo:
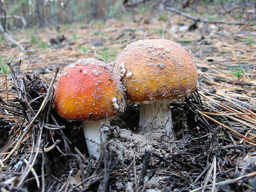
<instances>
[{"instance_id":1,"label":"thick pale stem of the larger orange mushroom","mask_svg":"<svg viewBox=\"0 0 256 192\"><path fill-rule=\"evenodd\" d=\"M150 132L155 126L165 126L167 135L171 138L173 134L173 121L171 120L170 102L140 103L140 132Z\"/></svg>"}]
</instances>

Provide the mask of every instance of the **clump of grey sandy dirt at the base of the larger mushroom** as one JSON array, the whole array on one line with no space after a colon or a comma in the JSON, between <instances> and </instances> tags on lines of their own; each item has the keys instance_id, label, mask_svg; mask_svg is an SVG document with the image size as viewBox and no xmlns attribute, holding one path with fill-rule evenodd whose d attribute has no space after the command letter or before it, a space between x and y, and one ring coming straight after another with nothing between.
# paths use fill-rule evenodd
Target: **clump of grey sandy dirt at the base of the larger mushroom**
<instances>
[{"instance_id":1,"label":"clump of grey sandy dirt at the base of the larger mushroom","mask_svg":"<svg viewBox=\"0 0 256 192\"><path fill-rule=\"evenodd\" d=\"M155 127L152 132L135 134L127 129L119 129L114 126L114 136L107 143L121 164L133 161L134 158L142 159L145 152L151 151L166 158L175 146L174 138L167 136L164 127ZM167 152L166 152L167 151Z\"/></svg>"}]
</instances>

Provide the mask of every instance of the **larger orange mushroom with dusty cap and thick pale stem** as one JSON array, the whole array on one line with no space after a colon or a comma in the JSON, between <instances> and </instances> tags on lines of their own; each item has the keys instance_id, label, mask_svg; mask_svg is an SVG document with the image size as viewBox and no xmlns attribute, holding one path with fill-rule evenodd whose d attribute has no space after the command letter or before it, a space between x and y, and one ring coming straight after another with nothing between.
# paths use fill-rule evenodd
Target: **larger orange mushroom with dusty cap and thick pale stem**
<instances>
[{"instance_id":1,"label":"larger orange mushroom with dusty cap and thick pale stem","mask_svg":"<svg viewBox=\"0 0 256 192\"><path fill-rule=\"evenodd\" d=\"M140 132L165 126L173 135L170 102L191 95L197 84L187 51L171 40L138 40L117 56L113 70L126 88L127 102L140 104Z\"/></svg>"}]
</instances>

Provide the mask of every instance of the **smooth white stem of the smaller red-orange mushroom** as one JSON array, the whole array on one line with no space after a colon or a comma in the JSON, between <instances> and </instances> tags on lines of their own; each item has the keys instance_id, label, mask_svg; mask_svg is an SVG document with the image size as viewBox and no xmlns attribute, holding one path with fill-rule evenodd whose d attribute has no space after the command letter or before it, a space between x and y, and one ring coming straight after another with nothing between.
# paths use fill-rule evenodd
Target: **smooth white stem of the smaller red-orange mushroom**
<instances>
[{"instance_id":1,"label":"smooth white stem of the smaller red-orange mushroom","mask_svg":"<svg viewBox=\"0 0 256 192\"><path fill-rule=\"evenodd\" d=\"M99 121L83 121L83 133L85 134L87 149L90 156L100 157L100 129L101 125L110 126L109 118ZM102 140L104 141L107 135L102 132Z\"/></svg>"}]
</instances>

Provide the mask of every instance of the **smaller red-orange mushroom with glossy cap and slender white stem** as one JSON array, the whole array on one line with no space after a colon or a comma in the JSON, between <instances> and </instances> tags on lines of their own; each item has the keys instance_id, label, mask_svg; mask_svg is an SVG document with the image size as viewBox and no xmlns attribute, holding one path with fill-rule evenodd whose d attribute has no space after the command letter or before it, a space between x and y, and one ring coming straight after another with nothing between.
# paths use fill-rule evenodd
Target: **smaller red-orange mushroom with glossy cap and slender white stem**
<instances>
[{"instance_id":1,"label":"smaller red-orange mushroom with glossy cap and slender white stem","mask_svg":"<svg viewBox=\"0 0 256 192\"><path fill-rule=\"evenodd\" d=\"M61 117L83 121L89 154L99 157L101 124L125 109L118 76L106 63L86 58L64 68L55 87L54 105Z\"/></svg>"}]
</instances>

